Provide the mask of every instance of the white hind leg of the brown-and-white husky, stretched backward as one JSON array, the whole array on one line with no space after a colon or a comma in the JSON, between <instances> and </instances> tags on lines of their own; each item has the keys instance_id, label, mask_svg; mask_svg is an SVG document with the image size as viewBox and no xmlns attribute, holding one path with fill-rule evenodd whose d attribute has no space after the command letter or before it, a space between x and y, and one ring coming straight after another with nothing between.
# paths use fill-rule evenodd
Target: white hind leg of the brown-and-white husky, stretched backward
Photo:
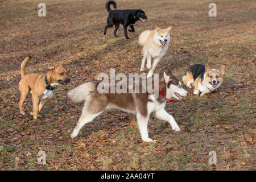
<instances>
[{"instance_id":1,"label":"white hind leg of the brown-and-white husky, stretched backward","mask_svg":"<svg viewBox=\"0 0 256 182\"><path fill-rule=\"evenodd\" d=\"M79 131L82 128L82 126L84 126L86 123L93 121L93 119L101 113L102 112L97 114L91 114L90 112L86 112L86 110L83 110L79 118L79 122L77 123L75 129L73 130L73 133L71 134L71 138L75 138L79 134Z\"/></svg>"}]
</instances>

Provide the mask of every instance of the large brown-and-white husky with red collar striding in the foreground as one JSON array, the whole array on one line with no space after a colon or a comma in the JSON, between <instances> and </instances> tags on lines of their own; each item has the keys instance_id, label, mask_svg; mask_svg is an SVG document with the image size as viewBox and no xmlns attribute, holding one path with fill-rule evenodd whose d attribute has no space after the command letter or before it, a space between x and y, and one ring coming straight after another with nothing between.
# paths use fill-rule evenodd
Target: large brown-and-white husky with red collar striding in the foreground
<instances>
[{"instance_id":1,"label":"large brown-and-white husky with red collar striding in the foreground","mask_svg":"<svg viewBox=\"0 0 256 182\"><path fill-rule=\"evenodd\" d=\"M158 98L155 98L155 94L149 94L148 92L98 93L98 84L100 82L85 82L68 92L68 98L73 102L85 101L82 114L71 134L71 138L75 138L79 134L82 126L108 109L120 109L135 114L142 140L146 142L155 141L148 138L147 123L151 113L154 113L156 118L169 122L174 131L180 131L174 117L168 114L164 107L166 101L171 97L181 100L181 97L187 96L188 92L181 87L181 82L172 75L171 69L159 73Z\"/></svg>"}]
</instances>

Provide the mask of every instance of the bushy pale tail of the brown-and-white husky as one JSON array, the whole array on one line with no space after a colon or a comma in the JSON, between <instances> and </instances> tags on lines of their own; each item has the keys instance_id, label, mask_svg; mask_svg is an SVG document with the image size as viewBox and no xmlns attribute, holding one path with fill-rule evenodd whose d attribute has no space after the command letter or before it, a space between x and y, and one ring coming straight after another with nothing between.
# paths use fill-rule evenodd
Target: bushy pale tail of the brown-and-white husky
<instances>
[{"instance_id":1,"label":"bushy pale tail of the brown-and-white husky","mask_svg":"<svg viewBox=\"0 0 256 182\"><path fill-rule=\"evenodd\" d=\"M90 92L96 90L96 82L85 82L68 92L68 98L73 102L85 101Z\"/></svg>"}]
</instances>

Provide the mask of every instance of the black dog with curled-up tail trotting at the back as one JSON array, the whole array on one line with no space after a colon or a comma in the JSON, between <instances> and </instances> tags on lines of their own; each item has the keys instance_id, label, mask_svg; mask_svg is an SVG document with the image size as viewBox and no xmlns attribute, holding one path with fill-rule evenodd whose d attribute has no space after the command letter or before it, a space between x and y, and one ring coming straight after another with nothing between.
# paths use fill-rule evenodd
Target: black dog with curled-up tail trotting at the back
<instances>
[{"instance_id":1,"label":"black dog with curled-up tail trotting at the back","mask_svg":"<svg viewBox=\"0 0 256 182\"><path fill-rule=\"evenodd\" d=\"M119 24L121 23L123 25L123 31L125 31L125 38L128 38L127 35L127 26L130 26L131 29L129 29L129 32L135 32L133 24L136 23L138 20L141 20L142 22L147 19L147 16L145 15L144 11L141 9L138 10L111 10L110 5L114 6L114 9L117 9L117 3L114 1L108 1L106 2L106 10L109 12L108 16L108 25L105 26L104 35L106 35L106 30L109 27L113 27L115 25L114 35L118 38L116 32L119 28Z\"/></svg>"}]
</instances>

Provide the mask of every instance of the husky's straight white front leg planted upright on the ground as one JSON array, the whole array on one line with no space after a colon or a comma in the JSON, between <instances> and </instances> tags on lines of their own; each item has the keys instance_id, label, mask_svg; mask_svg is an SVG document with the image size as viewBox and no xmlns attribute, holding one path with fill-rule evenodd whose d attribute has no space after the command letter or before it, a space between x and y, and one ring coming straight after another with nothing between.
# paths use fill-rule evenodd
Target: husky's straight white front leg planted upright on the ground
<instances>
[{"instance_id":1,"label":"husky's straight white front leg planted upright on the ground","mask_svg":"<svg viewBox=\"0 0 256 182\"><path fill-rule=\"evenodd\" d=\"M145 142L155 142L156 140L152 140L148 138L148 131L147 131L147 123L148 123L148 115L144 117L141 114L137 114L137 121L139 126L139 133L141 133L141 138Z\"/></svg>"}]
</instances>

